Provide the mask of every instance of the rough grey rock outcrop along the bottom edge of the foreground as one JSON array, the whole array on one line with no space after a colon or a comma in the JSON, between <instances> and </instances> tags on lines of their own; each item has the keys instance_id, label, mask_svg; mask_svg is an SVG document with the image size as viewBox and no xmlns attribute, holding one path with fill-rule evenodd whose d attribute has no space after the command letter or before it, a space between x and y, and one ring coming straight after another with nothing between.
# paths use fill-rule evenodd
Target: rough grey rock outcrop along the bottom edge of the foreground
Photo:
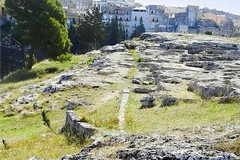
<instances>
[{"instance_id":1,"label":"rough grey rock outcrop along the bottom edge of the foreground","mask_svg":"<svg viewBox=\"0 0 240 160\"><path fill-rule=\"evenodd\" d=\"M204 128L203 128L204 129ZM110 155L101 149L118 146ZM102 151L102 152L101 152ZM97 154L96 154L97 153ZM97 160L97 159L123 159L123 160L239 160L240 157L232 153L225 153L214 149L209 139L201 137L161 136L158 134L120 135L113 136L105 141L94 142L85 147L76 155L66 156L62 160Z\"/></svg>"}]
</instances>

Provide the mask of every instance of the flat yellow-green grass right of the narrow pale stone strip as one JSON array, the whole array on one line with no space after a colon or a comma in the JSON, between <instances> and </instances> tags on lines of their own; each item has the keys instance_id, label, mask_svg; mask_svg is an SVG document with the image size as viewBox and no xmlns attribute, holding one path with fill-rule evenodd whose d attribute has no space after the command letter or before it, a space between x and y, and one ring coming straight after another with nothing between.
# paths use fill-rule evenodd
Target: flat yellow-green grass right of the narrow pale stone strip
<instances>
[{"instance_id":1,"label":"flat yellow-green grass right of the narrow pale stone strip","mask_svg":"<svg viewBox=\"0 0 240 160\"><path fill-rule=\"evenodd\" d=\"M126 131L130 133L167 132L174 128L194 128L211 124L239 123L238 103L218 104L213 101L183 103L161 108L140 109L142 95L130 94L126 106Z\"/></svg>"}]
</instances>

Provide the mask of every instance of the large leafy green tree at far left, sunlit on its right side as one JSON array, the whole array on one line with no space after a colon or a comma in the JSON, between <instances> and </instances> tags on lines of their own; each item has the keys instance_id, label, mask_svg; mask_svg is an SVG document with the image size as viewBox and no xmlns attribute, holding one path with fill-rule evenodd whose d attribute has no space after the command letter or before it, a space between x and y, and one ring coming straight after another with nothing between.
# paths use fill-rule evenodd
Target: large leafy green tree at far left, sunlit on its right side
<instances>
[{"instance_id":1,"label":"large leafy green tree at far left, sunlit on its right side","mask_svg":"<svg viewBox=\"0 0 240 160\"><path fill-rule=\"evenodd\" d=\"M27 69L32 68L36 53L56 60L69 51L71 42L60 0L6 0L6 8L17 21L20 41L31 45Z\"/></svg>"}]
</instances>

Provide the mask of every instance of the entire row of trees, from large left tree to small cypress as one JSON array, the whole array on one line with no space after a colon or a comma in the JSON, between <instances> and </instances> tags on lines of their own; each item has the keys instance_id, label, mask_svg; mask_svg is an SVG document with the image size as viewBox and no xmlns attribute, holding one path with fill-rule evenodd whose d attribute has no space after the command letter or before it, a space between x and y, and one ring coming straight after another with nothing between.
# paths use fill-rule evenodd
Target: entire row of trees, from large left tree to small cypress
<instances>
[{"instance_id":1,"label":"entire row of trees, from large left tree to small cypress","mask_svg":"<svg viewBox=\"0 0 240 160\"><path fill-rule=\"evenodd\" d=\"M124 24L117 19L103 22L103 14L92 8L76 23L66 28L67 17L60 0L6 0L9 15L16 19L14 31L22 46L30 46L27 69L34 64L36 54L59 60L71 53L86 53L104 45L114 45L125 39L139 36L145 31L142 19L128 37ZM68 59L68 58L67 58Z\"/></svg>"}]
</instances>

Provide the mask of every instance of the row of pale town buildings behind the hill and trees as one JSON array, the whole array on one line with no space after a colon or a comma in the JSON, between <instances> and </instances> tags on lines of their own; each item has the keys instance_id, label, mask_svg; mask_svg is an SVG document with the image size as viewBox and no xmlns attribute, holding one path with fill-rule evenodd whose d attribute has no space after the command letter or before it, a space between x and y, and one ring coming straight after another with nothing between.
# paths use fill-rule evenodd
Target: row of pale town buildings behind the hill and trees
<instances>
[{"instance_id":1,"label":"row of pale town buildings behind the hill and trees","mask_svg":"<svg viewBox=\"0 0 240 160\"><path fill-rule=\"evenodd\" d=\"M92 7L103 13L103 22L117 18L124 26L126 35L139 24L140 19L147 32L205 33L231 36L240 28L240 21L230 23L224 15L202 13L199 6L166 7L163 5L142 6L134 0L63 0L69 23L81 18ZM232 25L233 24L233 25ZM224 31L223 31L224 30ZM227 31L226 31L227 30Z\"/></svg>"}]
</instances>

